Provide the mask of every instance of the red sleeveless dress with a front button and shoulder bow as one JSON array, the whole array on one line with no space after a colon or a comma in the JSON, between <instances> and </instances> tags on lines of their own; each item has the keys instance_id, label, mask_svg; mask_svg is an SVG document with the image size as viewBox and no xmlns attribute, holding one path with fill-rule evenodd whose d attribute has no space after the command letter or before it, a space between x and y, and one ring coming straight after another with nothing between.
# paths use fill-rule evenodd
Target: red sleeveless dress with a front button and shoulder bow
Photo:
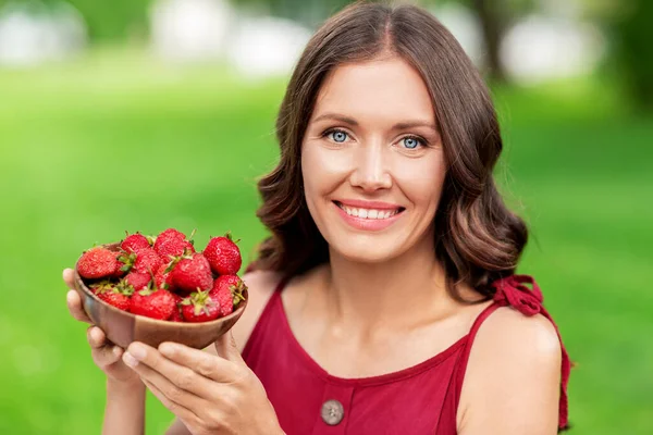
<instances>
[{"instance_id":1,"label":"red sleeveless dress with a front button and shoulder bow","mask_svg":"<svg viewBox=\"0 0 653 435\"><path fill-rule=\"evenodd\" d=\"M455 435L465 369L483 321L508 304L525 315L542 313L551 320L532 278L513 275L494 283L494 303L481 312L469 334L444 351L398 372L342 378L320 368L295 339L281 300L284 285L285 281L280 283L266 306L243 358L261 380L287 435ZM568 377L569 359L563 346L560 428L567 425Z\"/></svg>"}]
</instances>

